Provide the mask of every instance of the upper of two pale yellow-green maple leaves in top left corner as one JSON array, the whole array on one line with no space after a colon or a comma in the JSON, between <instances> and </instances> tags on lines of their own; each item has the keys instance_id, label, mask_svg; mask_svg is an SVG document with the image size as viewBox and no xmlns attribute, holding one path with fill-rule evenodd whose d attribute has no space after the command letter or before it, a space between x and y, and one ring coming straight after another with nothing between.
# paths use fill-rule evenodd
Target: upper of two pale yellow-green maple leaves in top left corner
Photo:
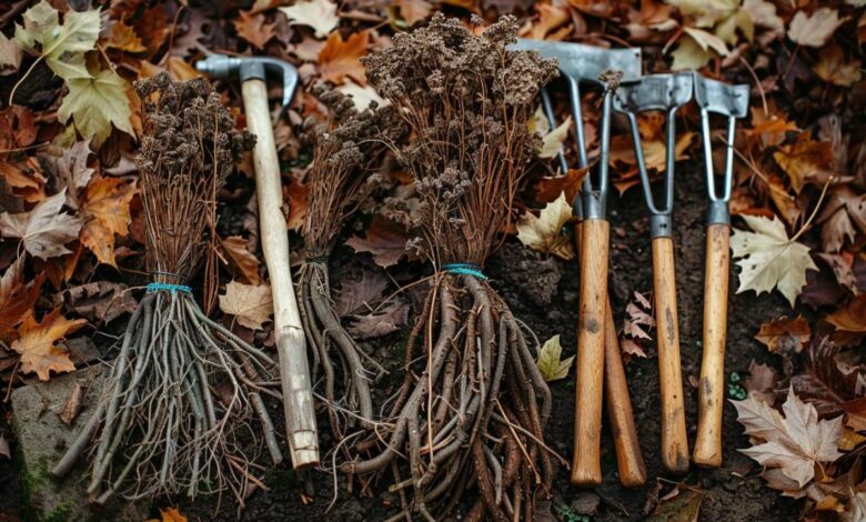
<instances>
[{"instance_id":1,"label":"upper of two pale yellow-green maple leaves in top left corner","mask_svg":"<svg viewBox=\"0 0 866 522\"><path fill-rule=\"evenodd\" d=\"M69 11L60 24L58 10L46 0L28 9L24 24L16 24L14 40L22 48L41 56L48 67L64 80L90 78L84 53L97 46L99 9ZM41 49L36 50L39 43Z\"/></svg>"}]
</instances>

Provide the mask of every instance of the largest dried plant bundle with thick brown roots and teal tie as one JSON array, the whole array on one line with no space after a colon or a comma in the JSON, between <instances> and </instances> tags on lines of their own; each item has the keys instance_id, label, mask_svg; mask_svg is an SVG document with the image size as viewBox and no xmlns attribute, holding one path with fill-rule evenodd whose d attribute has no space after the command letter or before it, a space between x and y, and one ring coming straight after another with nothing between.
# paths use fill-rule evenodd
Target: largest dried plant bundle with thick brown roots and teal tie
<instances>
[{"instance_id":1,"label":"largest dried plant bundle with thick brown roots and teal tie","mask_svg":"<svg viewBox=\"0 0 866 522\"><path fill-rule=\"evenodd\" d=\"M341 466L391 471L399 516L441 519L476 489L466 520L532 520L535 499L551 493L551 393L527 332L481 272L541 144L527 127L533 99L556 74L555 62L505 49L515 32L510 17L475 33L436 14L364 61L411 130L397 154L421 203L402 219L417 231L410 248L436 269L402 387Z\"/></svg>"}]
</instances>

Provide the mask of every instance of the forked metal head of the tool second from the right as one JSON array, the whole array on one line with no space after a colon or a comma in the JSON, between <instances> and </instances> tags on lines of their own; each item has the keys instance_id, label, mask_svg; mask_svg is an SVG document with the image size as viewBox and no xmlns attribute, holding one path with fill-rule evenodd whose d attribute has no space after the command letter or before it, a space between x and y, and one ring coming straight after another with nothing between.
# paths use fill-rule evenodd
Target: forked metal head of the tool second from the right
<instances>
[{"instance_id":1,"label":"forked metal head of the tool second from the right","mask_svg":"<svg viewBox=\"0 0 866 522\"><path fill-rule=\"evenodd\" d=\"M632 141L637 170L641 173L641 187L644 191L644 201L650 209L650 235L652 238L669 237L672 233L672 213L674 209L674 164L676 162L676 111L692 100L692 74L651 74L641 79L638 83L622 86L614 94L613 106L618 112L628 118L632 129ZM664 173L664 202L659 207L653 195L650 173L644 160L641 131L637 124L637 114L646 111L664 111L666 143L665 143L665 173Z\"/></svg>"}]
</instances>

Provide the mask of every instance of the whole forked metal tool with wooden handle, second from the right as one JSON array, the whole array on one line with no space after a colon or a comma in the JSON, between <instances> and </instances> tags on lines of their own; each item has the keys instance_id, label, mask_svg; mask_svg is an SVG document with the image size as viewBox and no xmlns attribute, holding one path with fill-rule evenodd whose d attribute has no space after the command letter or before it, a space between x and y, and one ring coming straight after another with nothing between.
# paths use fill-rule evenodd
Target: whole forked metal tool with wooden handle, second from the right
<instances>
[{"instance_id":1,"label":"whole forked metal tool with wooden handle, second from the right","mask_svg":"<svg viewBox=\"0 0 866 522\"><path fill-rule=\"evenodd\" d=\"M688 470L688 439L679 368L679 329L676 312L676 275L671 214L674 208L674 163L676 161L676 111L692 99L692 73L652 74L640 83L623 86L614 97L614 108L628 117L644 200L650 209L653 244L653 294L658 335L658 380L662 393L662 463L671 471ZM666 152L664 202L659 207L644 161L637 113L664 111Z\"/></svg>"}]
</instances>

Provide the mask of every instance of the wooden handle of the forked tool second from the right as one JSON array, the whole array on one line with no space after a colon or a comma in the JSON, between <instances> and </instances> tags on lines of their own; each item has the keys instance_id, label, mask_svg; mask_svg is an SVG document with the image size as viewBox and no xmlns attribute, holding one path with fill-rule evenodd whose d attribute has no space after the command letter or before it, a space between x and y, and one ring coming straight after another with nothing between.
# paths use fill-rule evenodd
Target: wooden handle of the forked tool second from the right
<instances>
[{"instance_id":1,"label":"wooden handle of the forked tool second from the right","mask_svg":"<svg viewBox=\"0 0 866 522\"><path fill-rule=\"evenodd\" d=\"M688 470L688 439L679 369L674 241L671 238L653 239L653 288L662 388L662 464L682 473Z\"/></svg>"}]
</instances>

